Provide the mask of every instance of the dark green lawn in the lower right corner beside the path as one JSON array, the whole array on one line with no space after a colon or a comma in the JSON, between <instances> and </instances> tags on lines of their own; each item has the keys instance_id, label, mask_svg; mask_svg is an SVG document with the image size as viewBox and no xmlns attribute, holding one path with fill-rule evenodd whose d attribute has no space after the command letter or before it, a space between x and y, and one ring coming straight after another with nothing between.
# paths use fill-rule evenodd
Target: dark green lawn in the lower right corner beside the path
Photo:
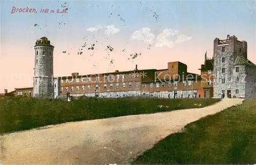
<instances>
[{"instance_id":1,"label":"dark green lawn in the lower right corner beside the path","mask_svg":"<svg viewBox=\"0 0 256 165\"><path fill-rule=\"evenodd\" d=\"M230 107L185 126L133 164L256 163L256 101Z\"/></svg>"}]
</instances>

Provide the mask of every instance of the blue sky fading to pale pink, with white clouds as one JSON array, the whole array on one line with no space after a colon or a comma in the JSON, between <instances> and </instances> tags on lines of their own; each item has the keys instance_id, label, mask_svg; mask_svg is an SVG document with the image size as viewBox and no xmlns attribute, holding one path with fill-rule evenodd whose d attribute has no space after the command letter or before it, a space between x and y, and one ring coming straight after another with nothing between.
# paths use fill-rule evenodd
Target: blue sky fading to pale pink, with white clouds
<instances>
[{"instance_id":1,"label":"blue sky fading to pale pink, with white clouds","mask_svg":"<svg viewBox=\"0 0 256 165\"><path fill-rule=\"evenodd\" d=\"M227 35L247 41L248 59L256 63L255 0L0 4L0 93L33 87L34 45L43 36L55 46L54 76L132 70L136 64L138 69L165 69L167 62L173 61L200 74L205 52L212 57L214 39L226 39ZM36 12L12 13L20 8ZM49 12L40 13L41 9ZM67 12L56 13L57 9ZM92 44L94 49L89 50ZM136 53L140 55L133 59Z\"/></svg>"}]
</instances>

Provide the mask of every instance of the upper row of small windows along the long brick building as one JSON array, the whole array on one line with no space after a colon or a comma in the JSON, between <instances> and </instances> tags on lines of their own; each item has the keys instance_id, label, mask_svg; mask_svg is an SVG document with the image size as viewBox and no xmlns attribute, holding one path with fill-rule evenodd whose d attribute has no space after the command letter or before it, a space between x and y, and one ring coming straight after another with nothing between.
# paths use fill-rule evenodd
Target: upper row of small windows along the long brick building
<instances>
[{"instance_id":1,"label":"upper row of small windows along the long brick building","mask_svg":"<svg viewBox=\"0 0 256 165\"><path fill-rule=\"evenodd\" d=\"M119 75L116 75L116 79L117 81L119 80ZM133 77L139 77L139 73L136 73L136 74L129 74L129 78L133 78ZM113 75L109 75L109 80L113 80ZM122 75L122 79L125 79L125 74ZM108 77L106 75L104 75L104 81L106 82L108 80ZM92 81L92 78L88 77L87 79L86 78L81 78L81 81L82 82L91 82ZM99 77L96 77L96 81L99 81ZM69 79L66 79L66 83L69 83ZM73 83L74 82L74 79L71 79L71 82ZM76 78L76 82L80 82L80 79L79 78ZM63 83L63 80L60 80L60 83L62 84Z\"/></svg>"}]
</instances>

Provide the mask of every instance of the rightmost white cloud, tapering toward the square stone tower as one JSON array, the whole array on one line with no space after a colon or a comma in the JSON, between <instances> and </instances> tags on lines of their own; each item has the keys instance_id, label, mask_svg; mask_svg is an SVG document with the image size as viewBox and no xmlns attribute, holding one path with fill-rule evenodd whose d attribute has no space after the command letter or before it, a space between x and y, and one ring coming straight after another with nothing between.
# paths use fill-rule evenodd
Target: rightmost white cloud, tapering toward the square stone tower
<instances>
[{"instance_id":1,"label":"rightmost white cloud, tapering toward the square stone tower","mask_svg":"<svg viewBox=\"0 0 256 165\"><path fill-rule=\"evenodd\" d=\"M156 46L167 46L168 48L172 48L175 44L186 42L191 39L191 36L181 34L178 30L164 29L156 38Z\"/></svg>"}]
</instances>

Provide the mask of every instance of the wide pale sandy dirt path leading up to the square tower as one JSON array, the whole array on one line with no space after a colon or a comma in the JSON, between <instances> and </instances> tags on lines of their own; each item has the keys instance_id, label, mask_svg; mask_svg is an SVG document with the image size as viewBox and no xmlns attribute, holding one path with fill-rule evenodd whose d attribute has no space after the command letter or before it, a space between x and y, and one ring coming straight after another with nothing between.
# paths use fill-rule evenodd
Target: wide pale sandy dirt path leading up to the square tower
<instances>
[{"instance_id":1,"label":"wide pale sandy dirt path leading up to the square tower","mask_svg":"<svg viewBox=\"0 0 256 165\"><path fill-rule=\"evenodd\" d=\"M72 122L6 134L0 137L0 164L129 163L186 124L242 101L224 99L199 109Z\"/></svg>"}]
</instances>

